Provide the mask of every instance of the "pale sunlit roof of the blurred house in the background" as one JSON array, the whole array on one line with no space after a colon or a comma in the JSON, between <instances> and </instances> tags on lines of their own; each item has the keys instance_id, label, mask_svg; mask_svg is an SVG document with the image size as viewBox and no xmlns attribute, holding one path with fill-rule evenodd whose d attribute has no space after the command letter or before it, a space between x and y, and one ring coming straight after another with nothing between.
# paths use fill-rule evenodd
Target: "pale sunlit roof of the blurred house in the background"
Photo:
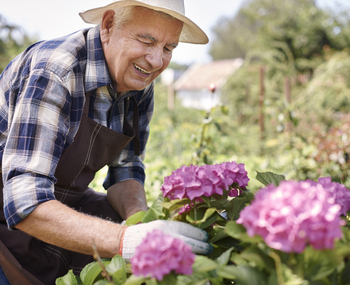
<instances>
[{"instance_id":1,"label":"pale sunlit roof of the blurred house in the background","mask_svg":"<svg viewBox=\"0 0 350 285\"><path fill-rule=\"evenodd\" d=\"M228 78L243 64L242 58L218 60L210 63L192 64L175 82L175 90L208 89L215 84L220 89Z\"/></svg>"}]
</instances>

